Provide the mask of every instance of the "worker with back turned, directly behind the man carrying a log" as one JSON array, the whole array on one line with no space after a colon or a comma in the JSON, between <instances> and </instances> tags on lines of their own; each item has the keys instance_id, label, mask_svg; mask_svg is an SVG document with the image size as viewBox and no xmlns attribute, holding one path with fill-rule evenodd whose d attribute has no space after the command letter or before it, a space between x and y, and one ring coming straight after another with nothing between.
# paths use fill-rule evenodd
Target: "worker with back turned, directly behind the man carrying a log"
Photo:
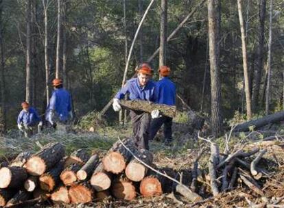
<instances>
[{"instance_id":1,"label":"worker with back turned, directly behind the man carrying a log","mask_svg":"<svg viewBox=\"0 0 284 208\"><path fill-rule=\"evenodd\" d=\"M154 102L165 105L176 105L176 86L169 79L169 73L171 72L168 66L160 66L158 69L159 81L156 82L156 88L154 92ZM151 113L152 121L150 125L150 140L153 140L158 129L164 125L164 144L169 146L172 142L171 125L173 118L161 115L158 109Z\"/></svg>"}]
</instances>

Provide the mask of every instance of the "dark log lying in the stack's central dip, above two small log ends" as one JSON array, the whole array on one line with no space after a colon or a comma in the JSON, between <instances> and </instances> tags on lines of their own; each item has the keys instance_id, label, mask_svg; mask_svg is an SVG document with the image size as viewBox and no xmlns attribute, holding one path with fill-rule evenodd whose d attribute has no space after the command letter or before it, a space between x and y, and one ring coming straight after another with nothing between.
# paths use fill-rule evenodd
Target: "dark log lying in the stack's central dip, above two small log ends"
<instances>
[{"instance_id":1,"label":"dark log lying in the stack's central dip, above two small log ends","mask_svg":"<svg viewBox=\"0 0 284 208\"><path fill-rule=\"evenodd\" d=\"M64 167L70 166L71 164L85 164L90 158L90 154L86 148L80 148L77 151L71 153L69 157L65 160Z\"/></svg>"}]
</instances>

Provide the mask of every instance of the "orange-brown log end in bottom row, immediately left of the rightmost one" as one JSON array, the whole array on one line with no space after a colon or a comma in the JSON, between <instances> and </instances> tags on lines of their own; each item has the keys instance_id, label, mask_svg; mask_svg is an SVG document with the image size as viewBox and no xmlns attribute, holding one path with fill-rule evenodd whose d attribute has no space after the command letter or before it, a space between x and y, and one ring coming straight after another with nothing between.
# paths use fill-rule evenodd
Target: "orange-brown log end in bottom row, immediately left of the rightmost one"
<instances>
[{"instance_id":1,"label":"orange-brown log end in bottom row, immediately left of the rightmost one","mask_svg":"<svg viewBox=\"0 0 284 208\"><path fill-rule=\"evenodd\" d=\"M118 177L113 181L112 187L110 188L113 196L118 199L132 200L136 198L137 193L135 187L129 179L126 177Z\"/></svg>"}]
</instances>

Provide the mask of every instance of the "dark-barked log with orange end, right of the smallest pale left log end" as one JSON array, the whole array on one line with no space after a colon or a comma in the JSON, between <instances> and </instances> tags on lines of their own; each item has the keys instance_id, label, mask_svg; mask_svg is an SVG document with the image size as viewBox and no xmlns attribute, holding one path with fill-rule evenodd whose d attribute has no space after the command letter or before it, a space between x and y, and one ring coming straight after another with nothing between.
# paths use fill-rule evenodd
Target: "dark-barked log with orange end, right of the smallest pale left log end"
<instances>
[{"instance_id":1,"label":"dark-barked log with orange end, right of the smallest pale left log end","mask_svg":"<svg viewBox=\"0 0 284 208\"><path fill-rule=\"evenodd\" d=\"M38 179L40 188L42 190L46 190L47 192L54 190L56 184L58 184L60 181L60 173L62 172L63 167L64 161L61 160L49 172L42 174Z\"/></svg>"}]
</instances>

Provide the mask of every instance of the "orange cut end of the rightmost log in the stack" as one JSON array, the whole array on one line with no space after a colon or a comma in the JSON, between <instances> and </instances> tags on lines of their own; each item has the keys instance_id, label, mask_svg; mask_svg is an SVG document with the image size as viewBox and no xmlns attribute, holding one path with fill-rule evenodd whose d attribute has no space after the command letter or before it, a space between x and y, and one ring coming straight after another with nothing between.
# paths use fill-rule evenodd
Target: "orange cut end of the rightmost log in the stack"
<instances>
[{"instance_id":1,"label":"orange cut end of the rightmost log in the stack","mask_svg":"<svg viewBox=\"0 0 284 208\"><path fill-rule=\"evenodd\" d=\"M143 196L159 196L163 194L161 182L155 177L145 177L140 183L140 192Z\"/></svg>"}]
</instances>

